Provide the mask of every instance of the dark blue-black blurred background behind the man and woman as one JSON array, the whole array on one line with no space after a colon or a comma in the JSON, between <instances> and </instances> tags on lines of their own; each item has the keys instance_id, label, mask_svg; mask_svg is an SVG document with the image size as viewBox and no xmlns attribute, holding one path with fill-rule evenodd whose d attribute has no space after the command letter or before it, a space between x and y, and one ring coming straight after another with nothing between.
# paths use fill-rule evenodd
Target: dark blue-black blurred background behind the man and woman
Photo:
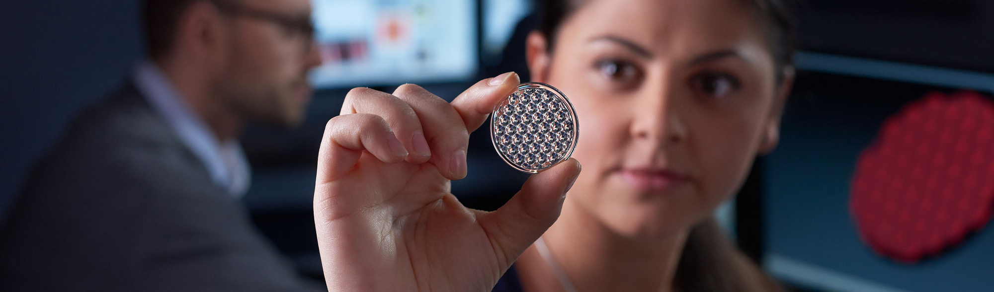
<instances>
[{"instance_id":1,"label":"dark blue-black blurred background behind the man and woman","mask_svg":"<svg viewBox=\"0 0 994 292\"><path fill-rule=\"evenodd\" d=\"M0 2L0 224L32 163L140 60L138 4ZM994 90L994 1L809 0L798 11L800 73L782 142L760 159L728 221L742 247L804 290L994 290L989 225L908 265L862 244L847 208L855 158L887 116L929 91ZM425 87L452 98L473 79L523 72L521 33L530 26L522 22L503 56L481 53L477 76ZM317 146L346 90L318 91L297 130L253 127L243 138L253 219L313 275L320 274L310 209ZM467 206L495 209L525 178L496 158L486 135L473 135L469 156L469 177L453 183Z\"/></svg>"}]
</instances>

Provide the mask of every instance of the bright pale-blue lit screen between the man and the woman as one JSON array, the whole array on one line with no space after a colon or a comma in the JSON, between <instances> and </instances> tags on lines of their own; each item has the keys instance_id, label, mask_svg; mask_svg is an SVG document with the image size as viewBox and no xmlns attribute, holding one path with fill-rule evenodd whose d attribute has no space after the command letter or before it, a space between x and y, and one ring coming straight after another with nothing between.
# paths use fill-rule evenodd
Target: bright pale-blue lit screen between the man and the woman
<instances>
[{"instance_id":1,"label":"bright pale-blue lit screen between the man and the woman","mask_svg":"<svg viewBox=\"0 0 994 292\"><path fill-rule=\"evenodd\" d=\"M464 81L477 69L474 0L312 0L318 88Z\"/></svg>"}]
</instances>

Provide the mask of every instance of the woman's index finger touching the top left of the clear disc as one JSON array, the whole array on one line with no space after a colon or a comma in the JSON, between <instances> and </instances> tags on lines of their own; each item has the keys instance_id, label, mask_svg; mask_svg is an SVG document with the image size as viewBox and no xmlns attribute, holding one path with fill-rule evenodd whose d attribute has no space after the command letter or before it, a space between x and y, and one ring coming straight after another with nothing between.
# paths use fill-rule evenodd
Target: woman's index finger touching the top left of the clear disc
<instances>
[{"instance_id":1,"label":"woman's index finger touching the top left of the clear disc","mask_svg":"<svg viewBox=\"0 0 994 292\"><path fill-rule=\"evenodd\" d=\"M508 95L514 93L521 84L518 73L502 73L496 77L482 79L459 96L452 99L452 107L462 116L466 130L473 132L487 120L494 107Z\"/></svg>"}]
</instances>

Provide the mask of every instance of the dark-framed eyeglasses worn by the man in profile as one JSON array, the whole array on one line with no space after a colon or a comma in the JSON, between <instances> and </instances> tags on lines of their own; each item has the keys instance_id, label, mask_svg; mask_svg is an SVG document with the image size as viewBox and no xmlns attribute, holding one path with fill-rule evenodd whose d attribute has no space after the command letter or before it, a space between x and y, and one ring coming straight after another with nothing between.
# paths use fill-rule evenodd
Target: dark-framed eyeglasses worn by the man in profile
<instances>
[{"instance_id":1,"label":"dark-framed eyeglasses worn by the man in profile","mask_svg":"<svg viewBox=\"0 0 994 292\"><path fill-rule=\"evenodd\" d=\"M303 44L301 45L303 45L303 50L305 52L309 51L311 47L314 46L315 29L314 23L311 21L309 16L289 16L276 12L258 10L232 3L230 0L213 0L210 2L213 3L214 6L218 8L218 11L221 11L222 13L232 16L244 16L273 23L282 27L284 32L288 35L302 37Z\"/></svg>"}]
</instances>

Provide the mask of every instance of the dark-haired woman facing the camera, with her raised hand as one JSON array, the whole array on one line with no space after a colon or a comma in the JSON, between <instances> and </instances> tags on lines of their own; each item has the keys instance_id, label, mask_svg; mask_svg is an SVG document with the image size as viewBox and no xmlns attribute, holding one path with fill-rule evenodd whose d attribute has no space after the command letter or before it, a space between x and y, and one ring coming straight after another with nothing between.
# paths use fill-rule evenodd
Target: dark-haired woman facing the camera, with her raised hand
<instances>
[{"instance_id":1,"label":"dark-haired woman facing the camera, with her raised hand","mask_svg":"<svg viewBox=\"0 0 994 292\"><path fill-rule=\"evenodd\" d=\"M793 78L782 3L563 0L544 11L529 69L576 106L575 159L534 175L496 212L468 210L449 180L465 176L468 132L516 74L451 103L414 85L350 92L318 166L328 287L775 290L711 214L776 145Z\"/></svg>"}]
</instances>

